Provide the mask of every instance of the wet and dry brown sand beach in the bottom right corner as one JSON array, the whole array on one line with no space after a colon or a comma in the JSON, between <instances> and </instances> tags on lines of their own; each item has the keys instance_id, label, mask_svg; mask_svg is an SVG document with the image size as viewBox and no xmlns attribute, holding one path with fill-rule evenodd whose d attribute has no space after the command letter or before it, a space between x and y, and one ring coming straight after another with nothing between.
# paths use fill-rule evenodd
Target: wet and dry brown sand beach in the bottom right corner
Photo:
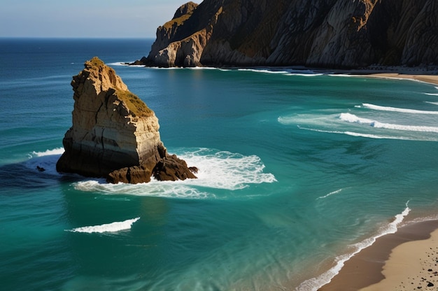
<instances>
[{"instance_id":1,"label":"wet and dry brown sand beach in the bottom right corner","mask_svg":"<svg viewBox=\"0 0 438 291\"><path fill-rule=\"evenodd\" d=\"M438 220L400 227L351 257L339 274L318 290L436 290L437 241Z\"/></svg>"}]
</instances>

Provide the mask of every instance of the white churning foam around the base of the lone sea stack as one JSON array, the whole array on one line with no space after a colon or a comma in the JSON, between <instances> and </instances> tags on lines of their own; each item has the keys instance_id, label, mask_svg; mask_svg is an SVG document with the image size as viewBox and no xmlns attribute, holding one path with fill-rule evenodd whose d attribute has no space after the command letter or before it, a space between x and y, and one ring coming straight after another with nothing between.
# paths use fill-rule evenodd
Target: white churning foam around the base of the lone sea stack
<instances>
[{"instance_id":1,"label":"white churning foam around the base of the lone sea stack","mask_svg":"<svg viewBox=\"0 0 438 291\"><path fill-rule=\"evenodd\" d=\"M271 173L264 173L264 164L255 155L200 148L178 153L189 166L196 166L197 179L177 181L151 180L141 184L108 184L102 180L86 180L74 183L76 190L104 194L132 194L140 196L173 198L218 198L209 188L241 190L251 184L274 183Z\"/></svg>"}]
</instances>

